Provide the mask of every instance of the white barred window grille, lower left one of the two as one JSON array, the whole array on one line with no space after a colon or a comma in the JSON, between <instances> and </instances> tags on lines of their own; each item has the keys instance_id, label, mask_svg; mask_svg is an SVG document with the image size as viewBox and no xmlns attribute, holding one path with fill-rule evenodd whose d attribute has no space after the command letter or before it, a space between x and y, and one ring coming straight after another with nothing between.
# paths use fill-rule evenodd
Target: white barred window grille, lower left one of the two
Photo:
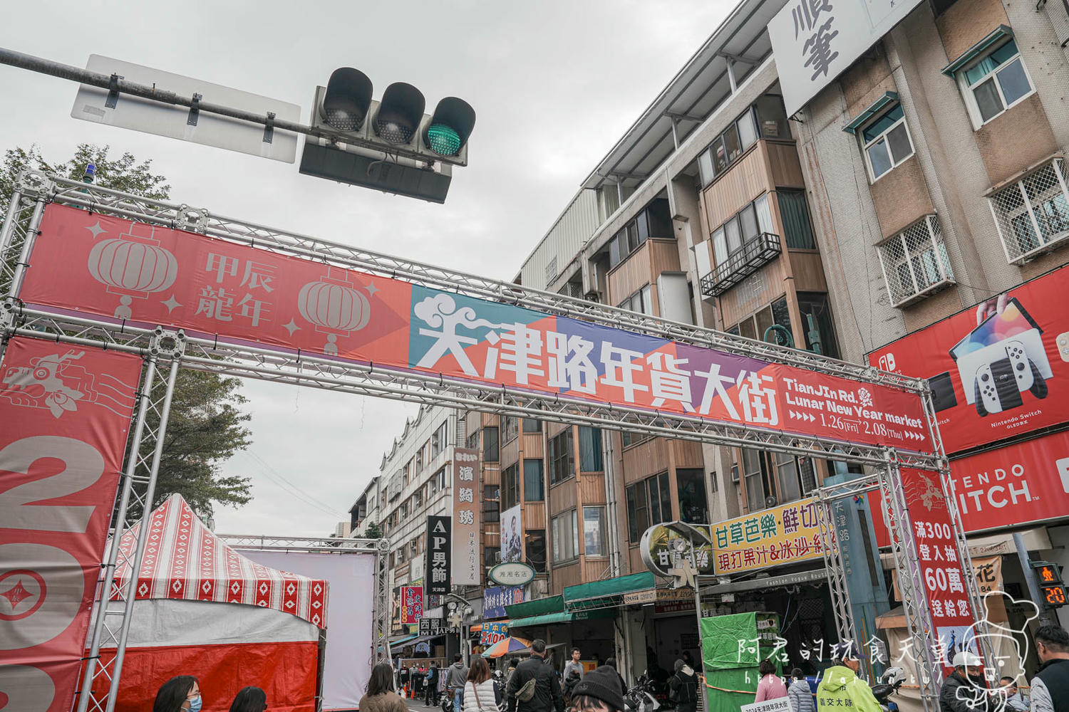
<instances>
[{"instance_id":1,"label":"white barred window grille, lower left one of the two","mask_svg":"<svg viewBox=\"0 0 1069 712\"><path fill-rule=\"evenodd\" d=\"M925 216L879 246L887 294L903 306L954 284L954 271L943 242L939 218Z\"/></svg>"}]
</instances>

